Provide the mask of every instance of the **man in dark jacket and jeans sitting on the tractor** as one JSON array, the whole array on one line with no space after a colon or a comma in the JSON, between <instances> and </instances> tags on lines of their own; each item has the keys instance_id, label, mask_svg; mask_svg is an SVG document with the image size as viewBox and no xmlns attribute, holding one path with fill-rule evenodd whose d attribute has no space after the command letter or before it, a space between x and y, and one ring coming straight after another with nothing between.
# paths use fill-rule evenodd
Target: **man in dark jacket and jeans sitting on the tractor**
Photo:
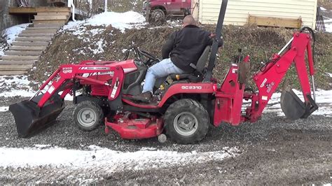
<instances>
[{"instance_id":1,"label":"man in dark jacket and jeans sitting on the tractor","mask_svg":"<svg viewBox=\"0 0 332 186\"><path fill-rule=\"evenodd\" d=\"M162 61L148 68L142 94L132 99L150 102L153 86L160 85L172 73L191 73L195 71L200 55L207 45L212 45L214 34L200 29L191 15L184 17L182 29L174 31L162 46ZM219 46L223 41L219 40Z\"/></svg>"}]
</instances>

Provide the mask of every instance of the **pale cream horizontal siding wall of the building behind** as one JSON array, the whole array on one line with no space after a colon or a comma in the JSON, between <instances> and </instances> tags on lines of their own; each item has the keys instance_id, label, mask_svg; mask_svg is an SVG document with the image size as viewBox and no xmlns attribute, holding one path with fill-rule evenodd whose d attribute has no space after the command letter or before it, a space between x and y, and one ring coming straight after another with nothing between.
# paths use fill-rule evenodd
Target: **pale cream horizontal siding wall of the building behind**
<instances>
[{"instance_id":1,"label":"pale cream horizontal siding wall of the building behind","mask_svg":"<svg viewBox=\"0 0 332 186\"><path fill-rule=\"evenodd\" d=\"M216 24L221 0L200 0L198 19ZM223 24L244 25L248 15L264 17L302 17L303 26L315 27L317 0L228 0Z\"/></svg>"}]
</instances>

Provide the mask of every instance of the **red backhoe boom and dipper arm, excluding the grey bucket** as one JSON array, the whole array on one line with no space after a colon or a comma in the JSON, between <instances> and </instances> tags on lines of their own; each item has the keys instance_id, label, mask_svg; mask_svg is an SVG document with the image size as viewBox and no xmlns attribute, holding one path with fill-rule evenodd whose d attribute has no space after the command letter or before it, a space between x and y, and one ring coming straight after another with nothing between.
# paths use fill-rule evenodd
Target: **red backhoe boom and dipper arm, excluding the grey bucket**
<instances>
[{"instance_id":1,"label":"red backhoe boom and dipper arm, excluding the grey bucket","mask_svg":"<svg viewBox=\"0 0 332 186\"><path fill-rule=\"evenodd\" d=\"M251 107L247 108L247 120L250 122L256 122L261 116L263 109L268 104L272 94L275 92L282 78L284 78L286 72L293 63L296 66L298 79L302 87L305 106L311 105L310 82L305 66L305 50L307 50L310 75L313 76L314 63L310 43L311 37L310 34L296 32L293 34L292 40L292 42L290 41L291 43L288 43L291 45L289 50L284 52L283 55L281 55L282 51L279 52L279 54L275 54L272 57L272 60L268 62L268 64L265 64L261 71L254 76L254 82L258 87L258 94L251 95ZM286 45L285 48L287 47L288 46Z\"/></svg>"}]
</instances>

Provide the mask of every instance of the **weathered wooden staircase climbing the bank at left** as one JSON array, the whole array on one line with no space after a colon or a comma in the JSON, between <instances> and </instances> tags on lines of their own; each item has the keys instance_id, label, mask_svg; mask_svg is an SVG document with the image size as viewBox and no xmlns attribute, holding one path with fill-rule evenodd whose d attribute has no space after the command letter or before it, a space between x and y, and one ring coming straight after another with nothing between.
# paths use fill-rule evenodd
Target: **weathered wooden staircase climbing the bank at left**
<instances>
[{"instance_id":1,"label":"weathered wooden staircase climbing the bank at left","mask_svg":"<svg viewBox=\"0 0 332 186\"><path fill-rule=\"evenodd\" d=\"M39 60L55 33L67 24L70 8L39 8L0 60L0 76L25 74Z\"/></svg>"}]
</instances>

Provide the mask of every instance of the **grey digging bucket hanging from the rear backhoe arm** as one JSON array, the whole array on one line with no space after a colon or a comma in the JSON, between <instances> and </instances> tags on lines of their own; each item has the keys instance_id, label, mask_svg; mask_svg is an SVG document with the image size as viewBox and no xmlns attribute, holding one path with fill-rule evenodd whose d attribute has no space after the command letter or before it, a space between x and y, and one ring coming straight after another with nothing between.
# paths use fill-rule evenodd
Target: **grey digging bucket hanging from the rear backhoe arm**
<instances>
[{"instance_id":1,"label":"grey digging bucket hanging from the rear backhoe arm","mask_svg":"<svg viewBox=\"0 0 332 186\"><path fill-rule=\"evenodd\" d=\"M282 90L280 106L286 117L290 120L298 120L305 114L305 104L289 86L286 86L284 90Z\"/></svg>"}]
</instances>

